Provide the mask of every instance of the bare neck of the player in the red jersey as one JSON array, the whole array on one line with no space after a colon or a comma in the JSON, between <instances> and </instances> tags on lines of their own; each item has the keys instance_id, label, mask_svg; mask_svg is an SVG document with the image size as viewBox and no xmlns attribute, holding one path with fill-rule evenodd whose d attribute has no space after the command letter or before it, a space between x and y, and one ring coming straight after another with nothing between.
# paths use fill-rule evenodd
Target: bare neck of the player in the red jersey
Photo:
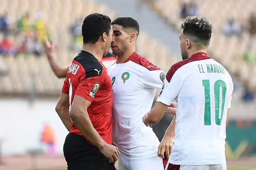
<instances>
[{"instance_id":1,"label":"bare neck of the player in the red jersey","mask_svg":"<svg viewBox=\"0 0 256 170\"><path fill-rule=\"evenodd\" d=\"M98 45L98 42L96 42L95 44L91 44L91 43L83 44L82 50L91 53L98 60L100 61L102 60L103 51Z\"/></svg>"}]
</instances>

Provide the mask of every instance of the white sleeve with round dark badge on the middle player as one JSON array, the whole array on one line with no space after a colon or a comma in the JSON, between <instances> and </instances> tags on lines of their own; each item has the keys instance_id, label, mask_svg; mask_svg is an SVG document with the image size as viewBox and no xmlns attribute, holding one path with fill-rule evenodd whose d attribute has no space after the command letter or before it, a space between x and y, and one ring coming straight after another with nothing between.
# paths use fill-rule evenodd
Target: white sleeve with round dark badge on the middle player
<instances>
[{"instance_id":1,"label":"white sleeve with round dark badge on the middle player","mask_svg":"<svg viewBox=\"0 0 256 170\"><path fill-rule=\"evenodd\" d=\"M165 72L163 70L146 70L142 75L142 85L145 88L161 90L164 85Z\"/></svg>"}]
</instances>

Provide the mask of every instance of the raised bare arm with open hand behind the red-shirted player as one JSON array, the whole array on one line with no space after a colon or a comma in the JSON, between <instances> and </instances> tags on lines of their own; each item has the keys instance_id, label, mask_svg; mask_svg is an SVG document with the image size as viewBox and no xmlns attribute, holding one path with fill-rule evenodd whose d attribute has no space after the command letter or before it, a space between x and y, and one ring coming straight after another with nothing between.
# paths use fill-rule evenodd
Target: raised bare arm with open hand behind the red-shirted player
<instances>
[{"instance_id":1,"label":"raised bare arm with open hand behind the red-shirted player","mask_svg":"<svg viewBox=\"0 0 256 170\"><path fill-rule=\"evenodd\" d=\"M61 68L56 62L53 54L53 42L49 42L46 36L44 37L44 50L54 74L58 78L65 78L67 76L68 67Z\"/></svg>"}]
</instances>

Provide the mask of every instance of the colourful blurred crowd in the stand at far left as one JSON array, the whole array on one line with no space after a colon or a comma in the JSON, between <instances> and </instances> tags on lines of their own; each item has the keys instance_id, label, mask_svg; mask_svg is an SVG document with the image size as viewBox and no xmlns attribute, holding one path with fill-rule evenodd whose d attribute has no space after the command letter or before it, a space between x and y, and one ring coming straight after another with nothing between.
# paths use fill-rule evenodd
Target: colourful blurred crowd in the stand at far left
<instances>
[{"instance_id":1,"label":"colourful blurred crowd in the stand at far left","mask_svg":"<svg viewBox=\"0 0 256 170\"><path fill-rule=\"evenodd\" d=\"M26 14L13 20L8 14L0 16L0 54L4 56L32 53L40 56L43 50L43 37L50 36L41 12L31 21Z\"/></svg>"}]
</instances>

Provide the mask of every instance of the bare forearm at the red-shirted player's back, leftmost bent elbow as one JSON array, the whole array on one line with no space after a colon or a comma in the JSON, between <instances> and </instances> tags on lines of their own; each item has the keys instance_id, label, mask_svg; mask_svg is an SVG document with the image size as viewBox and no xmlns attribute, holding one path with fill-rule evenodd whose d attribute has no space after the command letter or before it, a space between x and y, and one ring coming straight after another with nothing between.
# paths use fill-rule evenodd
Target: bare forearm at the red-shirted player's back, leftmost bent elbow
<instances>
[{"instance_id":1,"label":"bare forearm at the red-shirted player's back, leftmost bent elbow","mask_svg":"<svg viewBox=\"0 0 256 170\"><path fill-rule=\"evenodd\" d=\"M61 121L63 122L64 126L68 129L68 131L71 130L72 122L69 117L69 107L68 106L57 106L56 112L58 113Z\"/></svg>"}]
</instances>

